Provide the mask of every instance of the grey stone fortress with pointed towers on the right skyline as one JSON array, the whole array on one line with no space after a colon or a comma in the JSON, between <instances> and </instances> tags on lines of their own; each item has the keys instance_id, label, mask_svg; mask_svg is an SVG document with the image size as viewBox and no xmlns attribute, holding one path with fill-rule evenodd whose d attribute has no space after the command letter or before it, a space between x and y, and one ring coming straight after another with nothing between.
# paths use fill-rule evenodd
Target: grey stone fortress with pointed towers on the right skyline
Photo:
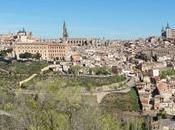
<instances>
[{"instance_id":1,"label":"grey stone fortress with pointed towers on the right skyline","mask_svg":"<svg viewBox=\"0 0 175 130\"><path fill-rule=\"evenodd\" d=\"M161 33L164 39L175 39L175 29L171 28L169 24L167 24L166 28L162 28Z\"/></svg>"}]
</instances>

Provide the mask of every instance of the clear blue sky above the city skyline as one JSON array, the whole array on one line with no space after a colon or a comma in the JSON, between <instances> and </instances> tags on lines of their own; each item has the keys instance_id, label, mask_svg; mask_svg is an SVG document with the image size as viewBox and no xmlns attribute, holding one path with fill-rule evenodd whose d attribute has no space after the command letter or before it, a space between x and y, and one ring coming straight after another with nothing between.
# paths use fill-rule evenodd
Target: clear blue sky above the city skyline
<instances>
[{"instance_id":1,"label":"clear blue sky above the city skyline","mask_svg":"<svg viewBox=\"0 0 175 130\"><path fill-rule=\"evenodd\" d=\"M0 33L23 27L57 38L66 21L70 37L130 39L175 26L174 0L0 0Z\"/></svg>"}]
</instances>

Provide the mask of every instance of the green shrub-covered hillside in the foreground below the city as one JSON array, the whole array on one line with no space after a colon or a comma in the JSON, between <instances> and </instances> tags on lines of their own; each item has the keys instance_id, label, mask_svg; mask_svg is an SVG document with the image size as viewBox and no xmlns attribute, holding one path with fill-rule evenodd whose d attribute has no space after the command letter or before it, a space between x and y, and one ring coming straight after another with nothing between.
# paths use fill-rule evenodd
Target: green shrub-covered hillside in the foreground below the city
<instances>
[{"instance_id":1,"label":"green shrub-covered hillside in the foreground below the city","mask_svg":"<svg viewBox=\"0 0 175 130\"><path fill-rule=\"evenodd\" d=\"M91 90L99 85L98 80L94 82L82 78L65 78L54 72L40 75L40 69L47 63L6 65L1 67L10 73L1 72L0 76L0 110L9 114L1 115L3 122L0 123L0 128L3 130L146 129L142 117L123 119L113 109L106 106L104 109L104 106L97 104L94 96L82 95L82 87ZM33 73L38 73L38 76L20 88L17 82ZM138 106L133 105L137 102L134 95L133 91L118 95L111 103L120 105L118 109L126 106L126 109L121 109L123 111L137 111Z\"/></svg>"}]
</instances>

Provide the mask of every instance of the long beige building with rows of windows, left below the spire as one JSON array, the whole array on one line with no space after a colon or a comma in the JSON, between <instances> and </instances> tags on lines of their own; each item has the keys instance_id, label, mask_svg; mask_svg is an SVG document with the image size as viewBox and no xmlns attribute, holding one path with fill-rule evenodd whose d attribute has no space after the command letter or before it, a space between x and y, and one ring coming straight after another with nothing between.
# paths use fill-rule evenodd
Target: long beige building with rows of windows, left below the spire
<instances>
[{"instance_id":1,"label":"long beige building with rows of windows, left below the spire","mask_svg":"<svg viewBox=\"0 0 175 130\"><path fill-rule=\"evenodd\" d=\"M67 54L67 46L62 43L17 43L14 46L14 54L17 59L25 52L41 54L42 60L64 60Z\"/></svg>"}]
</instances>

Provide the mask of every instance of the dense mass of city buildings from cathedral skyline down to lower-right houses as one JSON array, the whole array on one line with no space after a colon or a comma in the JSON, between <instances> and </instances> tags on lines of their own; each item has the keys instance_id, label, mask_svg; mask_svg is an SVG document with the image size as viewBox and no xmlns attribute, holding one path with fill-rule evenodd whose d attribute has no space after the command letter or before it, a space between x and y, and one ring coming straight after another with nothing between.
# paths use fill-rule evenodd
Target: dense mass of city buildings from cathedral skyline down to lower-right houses
<instances>
[{"instance_id":1,"label":"dense mass of city buildings from cathedral skyline down to lower-right houses","mask_svg":"<svg viewBox=\"0 0 175 130\"><path fill-rule=\"evenodd\" d=\"M119 74L135 79L144 113L175 116L175 78L161 77L162 71L175 68L175 29L167 25L161 33L161 37L131 41L70 38L64 22L62 38L36 39L23 29L16 34L0 35L0 50L12 48L17 59L31 53L40 54L41 60L63 61L64 65L71 62L85 68L116 67ZM166 120L169 125L158 121L152 122L155 130L174 127L171 120Z\"/></svg>"}]
</instances>

